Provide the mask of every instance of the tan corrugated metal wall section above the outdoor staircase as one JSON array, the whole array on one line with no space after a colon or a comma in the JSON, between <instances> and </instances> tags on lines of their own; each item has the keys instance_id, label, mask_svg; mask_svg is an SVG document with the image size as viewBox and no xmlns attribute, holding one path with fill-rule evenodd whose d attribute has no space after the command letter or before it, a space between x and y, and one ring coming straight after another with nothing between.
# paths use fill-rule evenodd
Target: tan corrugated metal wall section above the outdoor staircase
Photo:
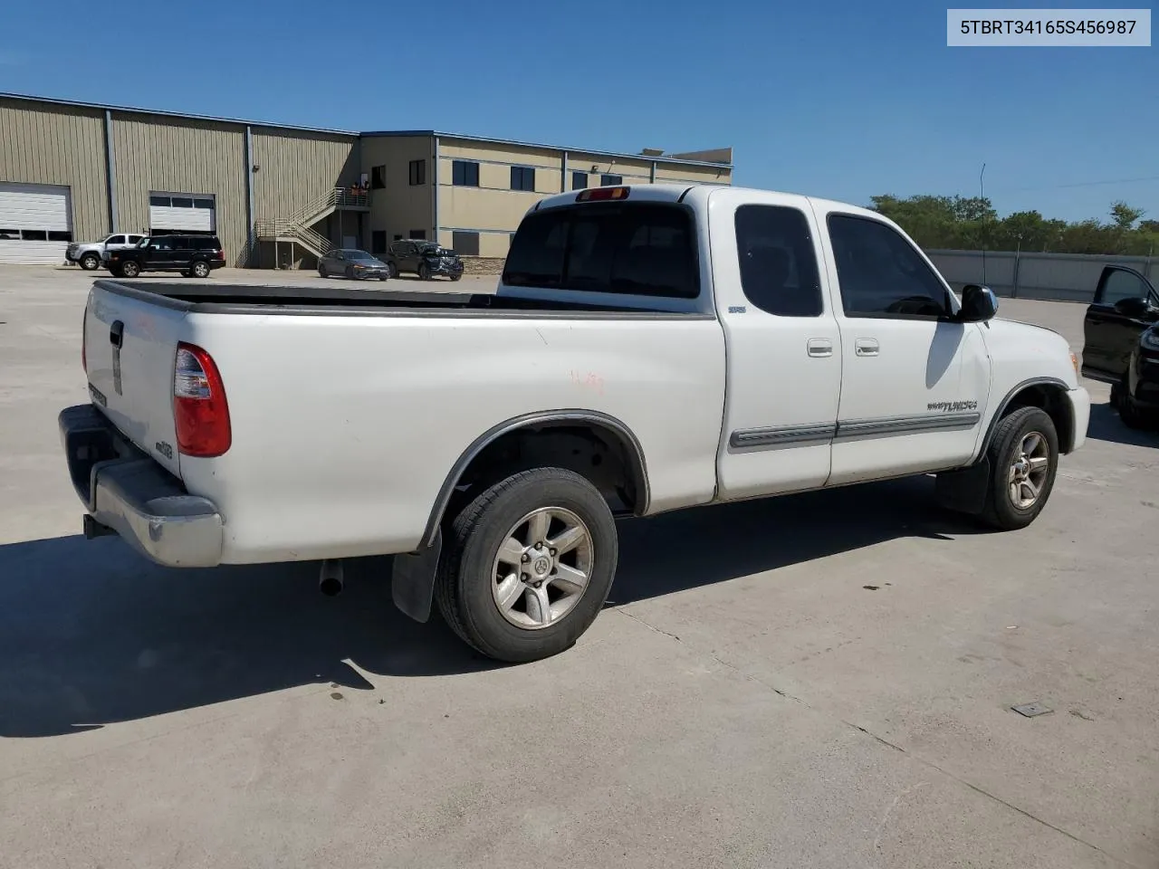
<instances>
[{"instance_id":1,"label":"tan corrugated metal wall section above the outdoor staircase","mask_svg":"<svg viewBox=\"0 0 1159 869\"><path fill-rule=\"evenodd\" d=\"M358 138L252 127L254 214L290 217L327 190L352 184L359 175Z\"/></svg>"}]
</instances>

